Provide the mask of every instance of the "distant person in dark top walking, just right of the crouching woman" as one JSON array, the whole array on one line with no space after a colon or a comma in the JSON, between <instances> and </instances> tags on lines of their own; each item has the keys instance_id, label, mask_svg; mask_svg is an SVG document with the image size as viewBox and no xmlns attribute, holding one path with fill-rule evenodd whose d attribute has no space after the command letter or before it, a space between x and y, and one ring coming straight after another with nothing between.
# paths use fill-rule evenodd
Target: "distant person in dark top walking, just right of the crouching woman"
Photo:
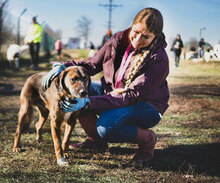
<instances>
[{"instance_id":1,"label":"distant person in dark top walking, just right of the crouching woman","mask_svg":"<svg viewBox=\"0 0 220 183\"><path fill-rule=\"evenodd\" d=\"M183 41L181 40L180 34L177 34L176 39L173 41L172 51L174 52L175 59L174 64L179 67L180 55L183 48Z\"/></svg>"}]
</instances>

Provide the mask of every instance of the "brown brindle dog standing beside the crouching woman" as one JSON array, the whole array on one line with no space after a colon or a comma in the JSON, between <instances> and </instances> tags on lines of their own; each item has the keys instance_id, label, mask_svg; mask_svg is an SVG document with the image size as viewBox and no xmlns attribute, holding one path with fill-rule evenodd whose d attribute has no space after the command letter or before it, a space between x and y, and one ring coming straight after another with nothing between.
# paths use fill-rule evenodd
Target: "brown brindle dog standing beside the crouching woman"
<instances>
[{"instance_id":1,"label":"brown brindle dog standing beside the crouching woman","mask_svg":"<svg viewBox=\"0 0 220 183\"><path fill-rule=\"evenodd\" d=\"M49 115L57 163L64 166L68 165L65 157L67 156L70 135L76 124L79 111L63 112L59 109L59 101L62 98L70 100L87 97L91 80L84 68L71 66L56 77L51 86L44 92L41 82L46 74L46 72L41 72L30 76L22 88L20 95L21 107L18 115L13 152L21 151L21 133L29 127L33 106L36 106L39 111L39 121L36 124L36 140L42 140L42 127ZM64 121L66 122L66 128L61 144L60 127Z\"/></svg>"}]
</instances>

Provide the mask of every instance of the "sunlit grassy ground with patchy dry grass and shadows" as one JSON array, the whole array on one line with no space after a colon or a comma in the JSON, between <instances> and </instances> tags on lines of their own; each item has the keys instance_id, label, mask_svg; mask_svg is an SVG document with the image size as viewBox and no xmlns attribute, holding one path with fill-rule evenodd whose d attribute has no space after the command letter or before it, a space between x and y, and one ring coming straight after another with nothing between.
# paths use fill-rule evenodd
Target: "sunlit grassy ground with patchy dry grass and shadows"
<instances>
[{"instance_id":1,"label":"sunlit grassy ground with patchy dry grass and shadows","mask_svg":"<svg viewBox=\"0 0 220 183\"><path fill-rule=\"evenodd\" d=\"M48 70L49 60L40 66ZM158 141L155 157L147 164L130 163L136 145L110 143L103 153L70 151L71 165L59 167L49 121L43 142L35 141L36 112L21 138L23 152L13 153L20 89L34 72L24 64L19 71L0 74L0 182L220 182L220 63L182 61L177 69L171 65L170 107L153 128ZM77 123L71 141L85 138Z\"/></svg>"}]
</instances>

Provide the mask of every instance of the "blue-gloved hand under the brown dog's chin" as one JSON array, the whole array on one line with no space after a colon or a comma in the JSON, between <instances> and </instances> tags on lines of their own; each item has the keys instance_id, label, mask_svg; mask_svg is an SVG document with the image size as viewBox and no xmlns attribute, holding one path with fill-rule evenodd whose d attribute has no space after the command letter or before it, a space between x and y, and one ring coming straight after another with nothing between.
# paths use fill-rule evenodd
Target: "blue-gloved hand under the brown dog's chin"
<instances>
[{"instance_id":1,"label":"blue-gloved hand under the brown dog's chin","mask_svg":"<svg viewBox=\"0 0 220 183\"><path fill-rule=\"evenodd\" d=\"M59 104L64 112L75 112L89 105L89 98L75 98L71 100L62 99Z\"/></svg>"}]
</instances>

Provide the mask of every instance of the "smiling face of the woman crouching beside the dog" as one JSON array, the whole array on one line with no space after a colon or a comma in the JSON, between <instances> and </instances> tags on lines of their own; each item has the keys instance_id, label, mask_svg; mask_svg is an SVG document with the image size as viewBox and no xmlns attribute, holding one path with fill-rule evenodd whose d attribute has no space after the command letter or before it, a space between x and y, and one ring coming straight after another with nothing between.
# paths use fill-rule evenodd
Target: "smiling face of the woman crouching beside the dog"
<instances>
[{"instance_id":1,"label":"smiling face of the woman crouching beside the dog","mask_svg":"<svg viewBox=\"0 0 220 183\"><path fill-rule=\"evenodd\" d=\"M129 39L134 49L147 47L150 45L154 38L154 33L149 32L144 24L137 23L131 27Z\"/></svg>"}]
</instances>

